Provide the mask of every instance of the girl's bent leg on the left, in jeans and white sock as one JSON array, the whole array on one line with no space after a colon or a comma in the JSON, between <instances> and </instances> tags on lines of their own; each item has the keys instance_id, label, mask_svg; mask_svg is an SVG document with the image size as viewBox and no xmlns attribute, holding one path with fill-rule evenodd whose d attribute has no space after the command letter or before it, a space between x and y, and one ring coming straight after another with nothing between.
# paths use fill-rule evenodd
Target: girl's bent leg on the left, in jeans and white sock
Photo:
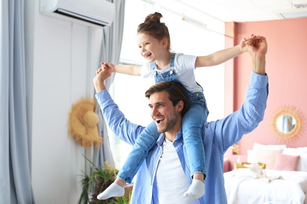
<instances>
[{"instance_id":1,"label":"girl's bent leg on the left, in jeans and white sock","mask_svg":"<svg viewBox=\"0 0 307 204\"><path fill-rule=\"evenodd\" d=\"M117 174L115 182L99 194L97 196L98 199L104 200L110 197L124 195L124 186L126 182L132 182L133 177L147 157L148 151L156 143L159 136L160 133L158 133L155 123L151 122L135 140L128 158Z\"/></svg>"}]
</instances>

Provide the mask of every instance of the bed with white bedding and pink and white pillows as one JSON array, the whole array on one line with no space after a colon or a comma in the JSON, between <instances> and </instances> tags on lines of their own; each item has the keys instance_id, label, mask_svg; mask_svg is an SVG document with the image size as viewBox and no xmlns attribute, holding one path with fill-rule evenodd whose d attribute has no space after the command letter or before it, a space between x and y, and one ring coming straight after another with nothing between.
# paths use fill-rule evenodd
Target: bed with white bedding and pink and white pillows
<instances>
[{"instance_id":1,"label":"bed with white bedding and pink and white pillows","mask_svg":"<svg viewBox=\"0 0 307 204\"><path fill-rule=\"evenodd\" d=\"M248 162L266 163L265 173L250 166L224 173L228 204L307 204L307 147L256 144Z\"/></svg>"}]
</instances>

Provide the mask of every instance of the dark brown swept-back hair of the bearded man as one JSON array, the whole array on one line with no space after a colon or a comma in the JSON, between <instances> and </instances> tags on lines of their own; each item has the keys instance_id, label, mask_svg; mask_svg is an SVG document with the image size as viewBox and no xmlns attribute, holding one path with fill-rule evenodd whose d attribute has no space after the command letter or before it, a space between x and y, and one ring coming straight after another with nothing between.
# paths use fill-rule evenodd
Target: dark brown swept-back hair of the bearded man
<instances>
[{"instance_id":1,"label":"dark brown swept-back hair of the bearded man","mask_svg":"<svg viewBox=\"0 0 307 204\"><path fill-rule=\"evenodd\" d=\"M173 106L176 106L179 101L183 101L183 109L181 116L189 110L189 97L184 87L177 81L162 81L151 86L146 92L145 97L149 98L153 93L165 91L168 98L172 101Z\"/></svg>"}]
</instances>

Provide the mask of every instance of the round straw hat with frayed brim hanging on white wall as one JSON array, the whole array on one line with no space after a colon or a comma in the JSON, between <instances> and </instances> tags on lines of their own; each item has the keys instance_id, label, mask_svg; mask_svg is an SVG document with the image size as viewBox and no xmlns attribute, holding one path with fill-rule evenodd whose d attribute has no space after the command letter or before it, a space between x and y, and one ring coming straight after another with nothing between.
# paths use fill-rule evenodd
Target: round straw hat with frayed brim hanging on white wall
<instances>
[{"instance_id":1,"label":"round straw hat with frayed brim hanging on white wall","mask_svg":"<svg viewBox=\"0 0 307 204\"><path fill-rule=\"evenodd\" d=\"M98 147L102 142L102 137L98 133L98 115L94 112L95 107L96 102L91 99L82 99L72 105L69 131L83 147L91 147L93 143Z\"/></svg>"}]
</instances>

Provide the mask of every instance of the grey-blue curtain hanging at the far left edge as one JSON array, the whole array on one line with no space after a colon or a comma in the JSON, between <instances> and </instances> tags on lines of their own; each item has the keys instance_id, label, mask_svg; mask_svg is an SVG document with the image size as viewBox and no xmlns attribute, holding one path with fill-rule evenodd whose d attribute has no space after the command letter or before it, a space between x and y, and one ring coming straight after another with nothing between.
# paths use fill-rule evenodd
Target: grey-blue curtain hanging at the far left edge
<instances>
[{"instance_id":1,"label":"grey-blue curtain hanging at the far left edge","mask_svg":"<svg viewBox=\"0 0 307 204\"><path fill-rule=\"evenodd\" d=\"M1 0L0 26L0 203L34 204L26 119L24 0Z\"/></svg>"}]
</instances>

